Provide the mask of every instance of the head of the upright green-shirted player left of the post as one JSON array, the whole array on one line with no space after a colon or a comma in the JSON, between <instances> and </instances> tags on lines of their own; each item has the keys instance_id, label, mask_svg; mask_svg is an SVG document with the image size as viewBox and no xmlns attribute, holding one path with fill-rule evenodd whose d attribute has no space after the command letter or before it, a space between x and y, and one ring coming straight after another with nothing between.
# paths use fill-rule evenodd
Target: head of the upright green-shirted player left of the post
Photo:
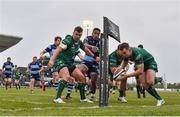
<instances>
[{"instance_id":1,"label":"head of the upright green-shirted player left of the post","mask_svg":"<svg viewBox=\"0 0 180 117\"><path fill-rule=\"evenodd\" d=\"M83 33L83 29L80 26L74 28L73 39L80 40Z\"/></svg>"}]
</instances>

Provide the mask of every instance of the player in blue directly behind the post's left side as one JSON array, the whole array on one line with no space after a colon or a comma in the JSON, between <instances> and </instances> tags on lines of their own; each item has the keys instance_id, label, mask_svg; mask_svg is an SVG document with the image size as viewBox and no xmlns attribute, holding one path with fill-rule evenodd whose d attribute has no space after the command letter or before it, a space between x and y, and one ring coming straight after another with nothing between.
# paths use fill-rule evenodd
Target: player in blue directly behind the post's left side
<instances>
[{"instance_id":1,"label":"player in blue directly behind the post's left side","mask_svg":"<svg viewBox=\"0 0 180 117\"><path fill-rule=\"evenodd\" d=\"M100 38L99 35L101 30L99 28L94 28L92 32L92 36L87 36L83 43L84 45L91 50L91 52L99 57L99 50L100 50ZM98 68L99 64L95 61L95 59L87 54L84 56L84 62L88 67L87 76L90 79L91 87L90 87L90 99L95 100L95 93L96 93L96 82L99 76Z\"/></svg>"}]
</instances>

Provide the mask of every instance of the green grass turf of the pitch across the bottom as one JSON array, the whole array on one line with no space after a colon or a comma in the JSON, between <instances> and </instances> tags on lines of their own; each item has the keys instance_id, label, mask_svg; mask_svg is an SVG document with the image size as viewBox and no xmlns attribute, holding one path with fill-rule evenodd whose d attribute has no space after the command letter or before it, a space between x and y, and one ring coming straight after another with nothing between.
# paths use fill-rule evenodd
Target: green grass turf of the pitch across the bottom
<instances>
[{"instance_id":1,"label":"green grass turf of the pitch across the bottom","mask_svg":"<svg viewBox=\"0 0 180 117\"><path fill-rule=\"evenodd\" d=\"M122 104L117 101L118 93L110 94L109 106L98 107L98 102L93 104L80 103L79 93L73 92L71 100L65 100L66 104L55 104L55 90L35 89L30 94L27 88L5 90L0 88L0 116L23 115L23 116L179 116L180 93L160 92L166 103L162 107L156 107L156 100L147 94L145 99L137 99L135 91L127 92L128 103Z\"/></svg>"}]
</instances>

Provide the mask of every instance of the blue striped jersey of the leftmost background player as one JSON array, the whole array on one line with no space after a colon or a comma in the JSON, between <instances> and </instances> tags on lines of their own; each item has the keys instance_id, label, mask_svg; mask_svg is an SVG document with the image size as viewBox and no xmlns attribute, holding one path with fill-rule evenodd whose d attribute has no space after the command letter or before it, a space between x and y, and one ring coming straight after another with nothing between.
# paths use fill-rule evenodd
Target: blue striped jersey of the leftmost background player
<instances>
[{"instance_id":1,"label":"blue striped jersey of the leftmost background player","mask_svg":"<svg viewBox=\"0 0 180 117\"><path fill-rule=\"evenodd\" d=\"M5 75L12 75L12 69L13 69L14 65L12 62L5 62L3 64L3 69L4 69L4 73Z\"/></svg>"}]
</instances>

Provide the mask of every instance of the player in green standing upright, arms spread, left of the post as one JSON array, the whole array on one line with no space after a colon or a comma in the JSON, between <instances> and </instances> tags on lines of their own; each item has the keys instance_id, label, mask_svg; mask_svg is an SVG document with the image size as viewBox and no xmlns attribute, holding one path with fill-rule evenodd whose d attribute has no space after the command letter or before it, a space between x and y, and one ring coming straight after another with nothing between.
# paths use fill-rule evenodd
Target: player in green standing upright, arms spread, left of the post
<instances>
[{"instance_id":1,"label":"player in green standing upright, arms spread, left of the post","mask_svg":"<svg viewBox=\"0 0 180 117\"><path fill-rule=\"evenodd\" d=\"M96 57L87 47L84 46L80 40L82 36L83 29L81 27L75 27L72 36L66 36L59 47L55 50L53 57L48 63L49 67L52 67L55 62L55 66L59 71L59 76L62 78L59 82L57 95L54 99L55 103L65 103L61 99L62 92L66 87L69 80L71 80L71 75L79 81L78 87L80 92L80 102L90 102L92 101L86 99L85 96L85 76L83 73L74 66L72 59L76 56L75 53L81 48L85 53L96 58L99 61L99 57ZM56 59L57 58L57 59Z\"/></svg>"}]
</instances>

